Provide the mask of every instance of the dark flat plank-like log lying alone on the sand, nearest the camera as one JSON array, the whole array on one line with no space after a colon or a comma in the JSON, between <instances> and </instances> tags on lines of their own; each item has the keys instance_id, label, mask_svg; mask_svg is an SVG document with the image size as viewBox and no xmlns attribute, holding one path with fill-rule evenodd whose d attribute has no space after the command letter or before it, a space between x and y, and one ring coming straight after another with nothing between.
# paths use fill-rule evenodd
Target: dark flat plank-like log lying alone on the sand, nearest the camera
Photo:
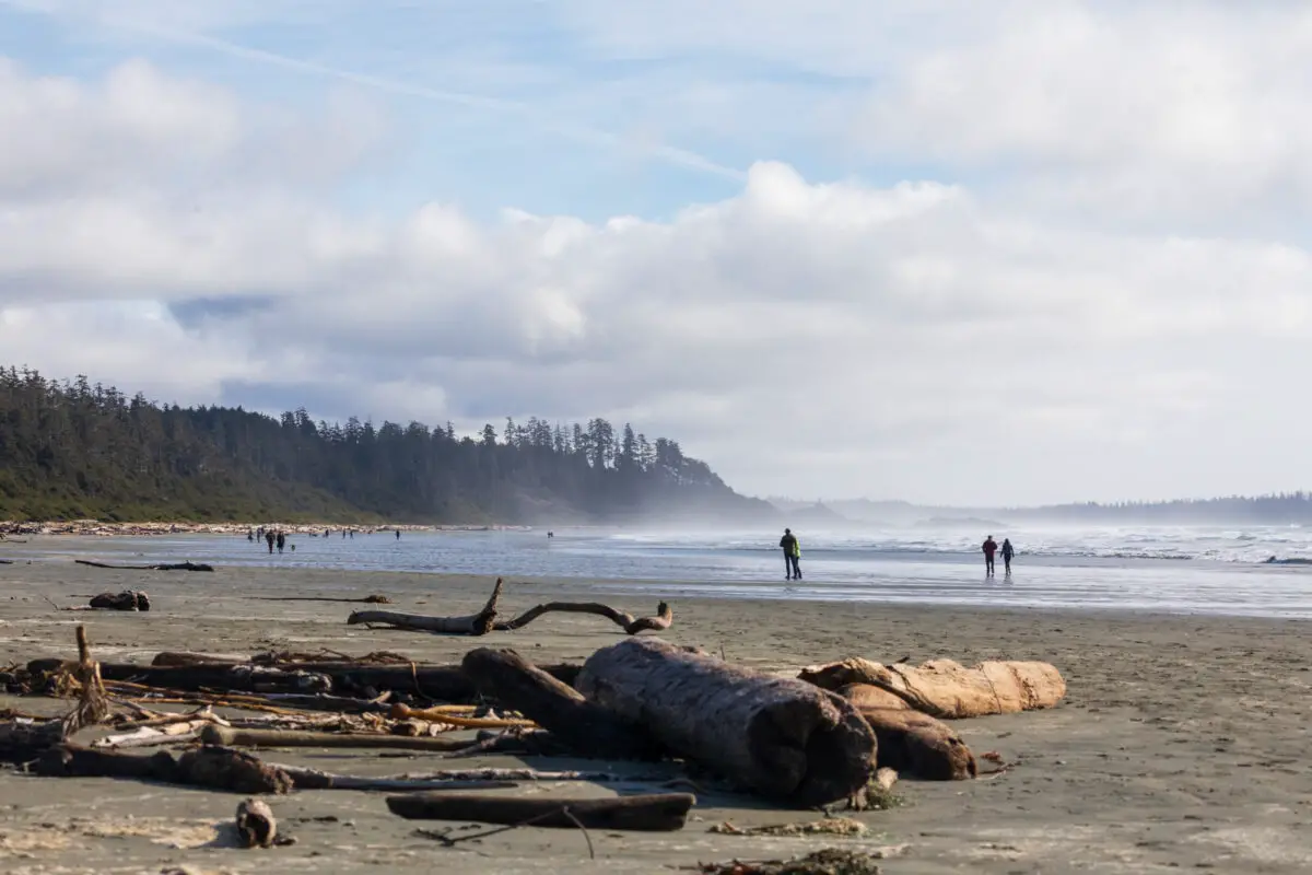
<instances>
[{"instance_id":1,"label":"dark flat plank-like log lying alone on the sand, nearest the camera","mask_svg":"<svg viewBox=\"0 0 1312 875\"><path fill-rule=\"evenodd\" d=\"M457 820L564 829L673 832L687 823L697 796L685 792L610 799L517 799L453 794L388 796L394 815L408 820Z\"/></svg>"}]
</instances>

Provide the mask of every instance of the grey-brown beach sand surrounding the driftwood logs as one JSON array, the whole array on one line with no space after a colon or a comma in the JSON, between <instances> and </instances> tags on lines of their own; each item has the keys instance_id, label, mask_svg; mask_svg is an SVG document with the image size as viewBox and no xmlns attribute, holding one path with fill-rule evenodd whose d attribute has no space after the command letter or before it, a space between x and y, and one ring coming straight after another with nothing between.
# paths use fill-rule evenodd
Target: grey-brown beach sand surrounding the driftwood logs
<instances>
[{"instance_id":1,"label":"grey-brown beach sand surrounding the driftwood logs","mask_svg":"<svg viewBox=\"0 0 1312 875\"><path fill-rule=\"evenodd\" d=\"M255 596L386 593L395 610L476 610L488 580L429 575L220 569L214 575L102 571L67 560L0 565L0 662L73 655L85 623L102 660L148 661L163 649L247 655L261 649L390 649L421 661L458 661L475 645L514 647L529 659L581 661L618 640L596 617L547 615L525 630L472 640L348 627L352 605L268 602ZM144 589L148 614L59 613L85 596ZM577 586L508 588L518 611ZM49 600L49 601L47 601ZM647 600L606 597L632 613ZM239 796L110 779L0 773L0 871L160 872L660 872L710 861L786 858L824 846L887 847L886 872L1156 872L1215 868L1302 872L1312 867L1312 626L1298 622L1134 614L949 610L815 602L680 600L669 640L697 644L762 669L865 656L880 661L950 657L1035 659L1057 665L1068 697L1056 708L955 724L979 753L1014 767L996 778L904 781L905 804L858 817L858 840L747 838L708 833L810 820L741 796L705 795L680 833L594 832L596 861L573 830L517 829L443 847L378 794L316 791L272 799L290 847L223 847ZM64 703L3 704L60 712ZM451 767L432 757L279 750L266 758L350 774ZM458 761L520 765L512 758ZM539 767L560 767L537 762ZM597 767L586 763L585 767ZM546 784L604 795L592 784Z\"/></svg>"}]
</instances>

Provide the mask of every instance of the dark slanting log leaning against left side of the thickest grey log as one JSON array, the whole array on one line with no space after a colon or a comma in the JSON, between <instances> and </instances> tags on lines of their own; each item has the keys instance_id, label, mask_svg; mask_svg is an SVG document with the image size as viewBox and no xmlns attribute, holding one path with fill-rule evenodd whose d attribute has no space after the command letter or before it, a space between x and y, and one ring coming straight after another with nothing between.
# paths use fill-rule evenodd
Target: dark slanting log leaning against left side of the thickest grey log
<instances>
[{"instance_id":1,"label":"dark slanting log leaning against left side of the thickest grey log","mask_svg":"<svg viewBox=\"0 0 1312 875\"><path fill-rule=\"evenodd\" d=\"M580 756L655 760L661 753L640 725L588 702L514 651L470 651L461 668L480 693L525 715Z\"/></svg>"}]
</instances>

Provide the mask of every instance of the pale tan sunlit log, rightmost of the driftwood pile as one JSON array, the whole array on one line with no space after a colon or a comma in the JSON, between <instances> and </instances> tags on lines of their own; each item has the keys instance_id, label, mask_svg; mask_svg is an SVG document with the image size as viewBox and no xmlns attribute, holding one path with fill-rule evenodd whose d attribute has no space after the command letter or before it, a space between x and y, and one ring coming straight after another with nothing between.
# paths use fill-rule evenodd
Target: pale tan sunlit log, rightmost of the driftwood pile
<instances>
[{"instance_id":1,"label":"pale tan sunlit log, rightmost of the driftwood pile","mask_svg":"<svg viewBox=\"0 0 1312 875\"><path fill-rule=\"evenodd\" d=\"M827 690L870 683L946 720L1050 708L1065 695L1061 673L1048 662L985 661L966 668L953 660L884 665L850 659L806 668L798 677Z\"/></svg>"}]
</instances>

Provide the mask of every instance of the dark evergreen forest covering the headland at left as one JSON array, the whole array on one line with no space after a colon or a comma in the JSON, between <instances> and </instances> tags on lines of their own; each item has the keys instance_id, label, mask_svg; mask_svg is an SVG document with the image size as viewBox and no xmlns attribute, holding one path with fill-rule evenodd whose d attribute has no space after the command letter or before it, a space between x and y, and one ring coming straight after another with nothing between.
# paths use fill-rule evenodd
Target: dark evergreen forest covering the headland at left
<instances>
[{"instance_id":1,"label":"dark evergreen forest covering the headland at left","mask_svg":"<svg viewBox=\"0 0 1312 875\"><path fill-rule=\"evenodd\" d=\"M0 519L583 523L771 518L676 441L602 418L459 436L270 417L0 369Z\"/></svg>"}]
</instances>

